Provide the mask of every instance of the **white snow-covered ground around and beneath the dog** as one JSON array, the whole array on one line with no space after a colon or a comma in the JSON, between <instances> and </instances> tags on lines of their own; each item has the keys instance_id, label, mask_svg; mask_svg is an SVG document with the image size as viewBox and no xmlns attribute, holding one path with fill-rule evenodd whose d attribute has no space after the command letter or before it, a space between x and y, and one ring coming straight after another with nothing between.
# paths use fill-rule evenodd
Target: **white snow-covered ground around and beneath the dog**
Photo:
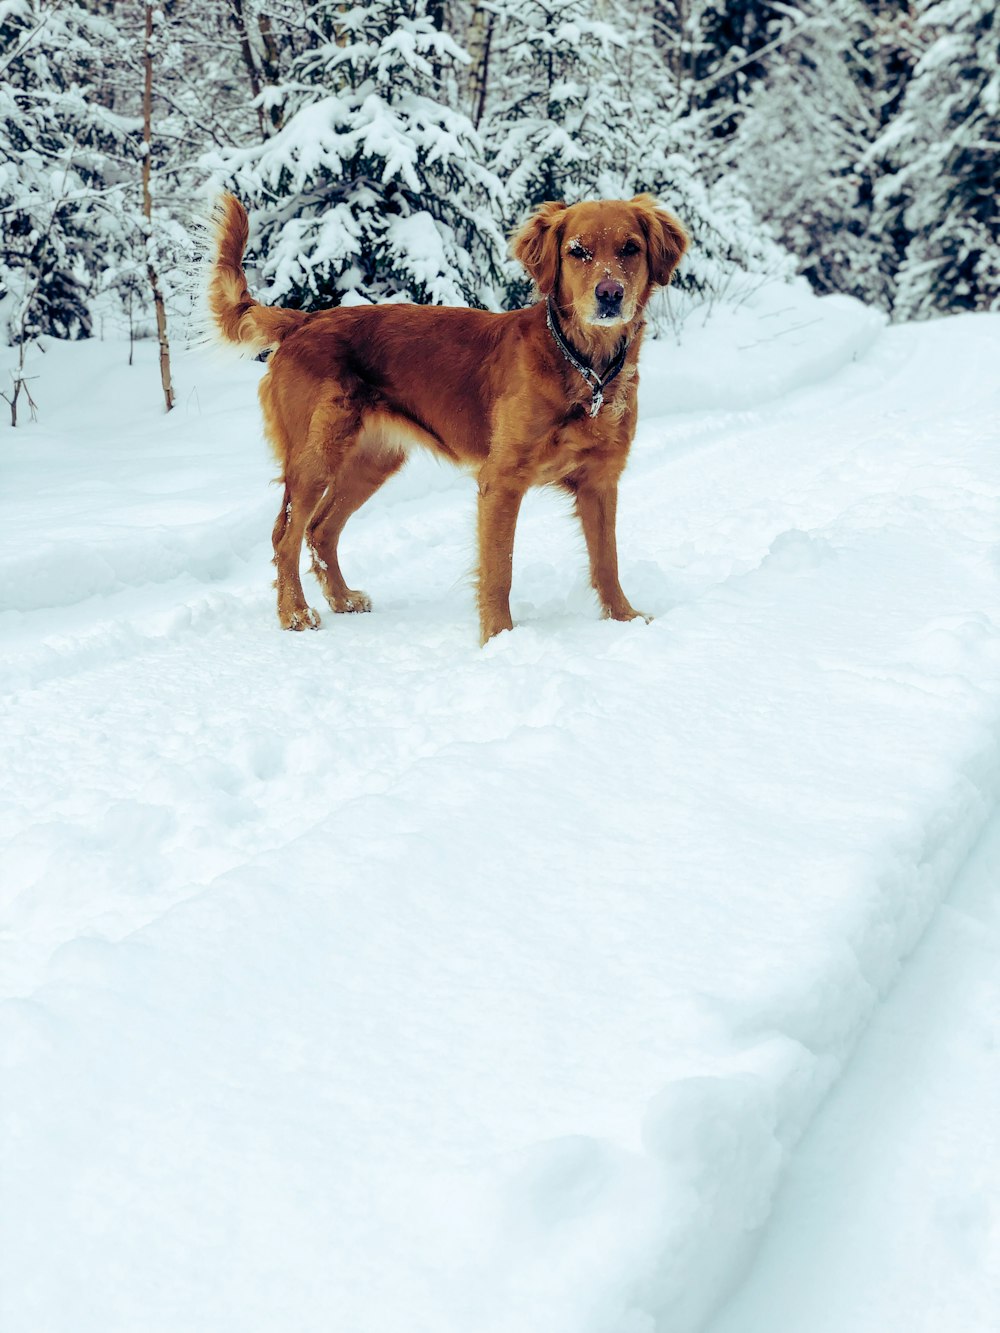
<instances>
[{"instance_id":1,"label":"white snow-covered ground around and beneath the dog","mask_svg":"<svg viewBox=\"0 0 1000 1333\"><path fill-rule=\"evenodd\" d=\"M375 613L284 635L263 368L180 357L165 417L149 345L39 363L4 1333L929 1333L949 1282L995 1333L1000 317L651 343L656 619L537 493L484 651L468 479L415 459L345 535Z\"/></svg>"}]
</instances>

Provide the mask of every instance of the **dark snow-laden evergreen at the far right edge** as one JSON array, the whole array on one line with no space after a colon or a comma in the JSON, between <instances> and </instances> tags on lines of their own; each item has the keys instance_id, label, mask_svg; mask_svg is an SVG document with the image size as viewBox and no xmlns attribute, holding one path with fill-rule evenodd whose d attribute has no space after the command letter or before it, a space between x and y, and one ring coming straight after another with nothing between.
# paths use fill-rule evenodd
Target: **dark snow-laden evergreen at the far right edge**
<instances>
[{"instance_id":1,"label":"dark snow-laden evergreen at the far right edge","mask_svg":"<svg viewBox=\"0 0 1000 1333\"><path fill-rule=\"evenodd\" d=\"M920 0L927 48L876 153L876 227L901 257L895 313L1000 309L1000 15Z\"/></svg>"}]
</instances>

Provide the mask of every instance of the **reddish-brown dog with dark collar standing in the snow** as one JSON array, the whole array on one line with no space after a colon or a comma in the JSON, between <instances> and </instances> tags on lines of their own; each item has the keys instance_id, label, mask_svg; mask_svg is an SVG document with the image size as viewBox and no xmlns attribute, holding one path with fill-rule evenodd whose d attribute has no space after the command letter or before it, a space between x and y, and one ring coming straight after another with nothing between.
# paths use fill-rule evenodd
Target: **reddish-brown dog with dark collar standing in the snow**
<instances>
[{"instance_id":1,"label":"reddish-brown dog with dark collar standing in the snow","mask_svg":"<svg viewBox=\"0 0 1000 1333\"><path fill-rule=\"evenodd\" d=\"M315 629L299 579L303 536L331 608L369 611L347 587L337 543L349 516L421 444L479 476L481 643L511 629L513 532L528 487L572 493L605 616L635 611L619 584L619 476L636 428L643 309L687 248L649 195L541 204L513 253L545 300L523 311L355 305L303 313L247 291L247 213L224 195L208 300L224 340L273 351L260 384L281 464L273 532L277 616Z\"/></svg>"}]
</instances>

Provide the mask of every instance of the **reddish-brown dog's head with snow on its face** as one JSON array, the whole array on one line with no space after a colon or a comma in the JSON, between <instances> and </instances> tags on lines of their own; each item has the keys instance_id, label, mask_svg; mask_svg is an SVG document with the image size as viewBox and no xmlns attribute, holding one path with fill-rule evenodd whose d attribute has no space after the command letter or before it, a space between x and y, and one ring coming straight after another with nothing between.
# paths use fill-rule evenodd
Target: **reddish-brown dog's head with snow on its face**
<instances>
[{"instance_id":1,"label":"reddish-brown dog's head with snow on its face","mask_svg":"<svg viewBox=\"0 0 1000 1333\"><path fill-rule=\"evenodd\" d=\"M688 237L652 195L540 204L515 233L513 255L543 296L581 325L628 324L665 287Z\"/></svg>"}]
</instances>

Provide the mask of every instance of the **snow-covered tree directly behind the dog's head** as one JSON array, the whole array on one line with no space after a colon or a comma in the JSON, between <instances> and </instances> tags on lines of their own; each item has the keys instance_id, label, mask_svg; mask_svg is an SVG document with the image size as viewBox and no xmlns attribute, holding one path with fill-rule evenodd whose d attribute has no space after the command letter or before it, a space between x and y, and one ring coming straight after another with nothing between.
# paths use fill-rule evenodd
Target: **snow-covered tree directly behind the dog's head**
<instances>
[{"instance_id":1,"label":"snow-covered tree directly behind the dog's head","mask_svg":"<svg viewBox=\"0 0 1000 1333\"><path fill-rule=\"evenodd\" d=\"M739 183L708 169L705 115L691 109L663 32L653 40L660 20L649 7L495 0L491 11L481 128L489 165L505 183L508 227L545 199L648 191L692 236L676 285L709 296L731 284L735 269L787 268ZM527 295L513 275L508 301Z\"/></svg>"}]
</instances>

